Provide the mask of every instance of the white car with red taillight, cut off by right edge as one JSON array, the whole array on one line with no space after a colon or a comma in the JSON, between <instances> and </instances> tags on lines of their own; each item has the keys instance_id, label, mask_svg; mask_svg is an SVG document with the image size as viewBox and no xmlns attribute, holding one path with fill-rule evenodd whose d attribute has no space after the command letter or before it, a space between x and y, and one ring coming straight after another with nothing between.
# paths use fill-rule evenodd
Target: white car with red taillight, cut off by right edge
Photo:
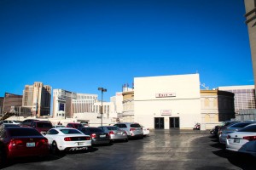
<instances>
[{"instance_id":1,"label":"white car with red taillight, cut off by right edge","mask_svg":"<svg viewBox=\"0 0 256 170\"><path fill-rule=\"evenodd\" d=\"M226 139L226 150L237 151L256 156L256 125L248 125Z\"/></svg>"}]
</instances>

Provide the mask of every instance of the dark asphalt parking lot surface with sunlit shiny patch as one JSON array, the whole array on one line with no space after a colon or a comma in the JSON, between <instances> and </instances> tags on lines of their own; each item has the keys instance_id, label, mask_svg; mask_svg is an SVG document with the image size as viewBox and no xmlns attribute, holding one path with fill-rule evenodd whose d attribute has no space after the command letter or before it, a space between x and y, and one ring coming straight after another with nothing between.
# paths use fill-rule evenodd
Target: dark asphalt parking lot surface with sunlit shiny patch
<instances>
[{"instance_id":1,"label":"dark asphalt parking lot surface with sunlit shiny patch","mask_svg":"<svg viewBox=\"0 0 256 170\"><path fill-rule=\"evenodd\" d=\"M90 152L11 160L4 169L256 169L252 156L227 152L207 132L153 130L149 137Z\"/></svg>"}]
</instances>

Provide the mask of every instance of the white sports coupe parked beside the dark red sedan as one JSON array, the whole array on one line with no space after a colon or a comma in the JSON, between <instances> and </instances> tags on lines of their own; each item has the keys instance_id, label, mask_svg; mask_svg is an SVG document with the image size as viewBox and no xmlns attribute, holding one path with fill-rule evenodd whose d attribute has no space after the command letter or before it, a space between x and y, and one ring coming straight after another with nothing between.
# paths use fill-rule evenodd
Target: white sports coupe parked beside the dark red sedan
<instances>
[{"instance_id":1,"label":"white sports coupe parked beside the dark red sedan","mask_svg":"<svg viewBox=\"0 0 256 170\"><path fill-rule=\"evenodd\" d=\"M60 150L89 150L91 147L90 136L71 127L51 128L44 137L48 139L53 153Z\"/></svg>"}]
</instances>

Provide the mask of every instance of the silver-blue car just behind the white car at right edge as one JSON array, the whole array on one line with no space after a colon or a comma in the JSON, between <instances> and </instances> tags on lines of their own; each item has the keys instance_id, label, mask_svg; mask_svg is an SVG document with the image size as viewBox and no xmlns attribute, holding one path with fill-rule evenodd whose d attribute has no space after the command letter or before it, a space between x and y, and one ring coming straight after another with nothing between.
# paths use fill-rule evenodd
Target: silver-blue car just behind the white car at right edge
<instances>
[{"instance_id":1,"label":"silver-blue car just behind the white car at right edge","mask_svg":"<svg viewBox=\"0 0 256 170\"><path fill-rule=\"evenodd\" d=\"M250 124L253 124L256 122L237 122L235 124L231 124L229 127L226 127L224 129L221 129L220 134L219 134L219 142L221 144L226 144L226 139L227 136L230 133L234 133L236 131L238 131L239 129L243 128L243 127L247 127Z\"/></svg>"}]
</instances>

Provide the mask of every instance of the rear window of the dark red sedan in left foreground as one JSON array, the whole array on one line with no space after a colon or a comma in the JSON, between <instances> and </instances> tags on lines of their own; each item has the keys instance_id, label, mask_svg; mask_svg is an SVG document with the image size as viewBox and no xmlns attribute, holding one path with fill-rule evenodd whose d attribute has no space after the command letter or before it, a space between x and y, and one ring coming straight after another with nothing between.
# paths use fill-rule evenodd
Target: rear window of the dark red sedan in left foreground
<instances>
[{"instance_id":1,"label":"rear window of the dark red sedan in left foreground","mask_svg":"<svg viewBox=\"0 0 256 170\"><path fill-rule=\"evenodd\" d=\"M30 127L10 127L10 136L42 136L36 129Z\"/></svg>"}]
</instances>

